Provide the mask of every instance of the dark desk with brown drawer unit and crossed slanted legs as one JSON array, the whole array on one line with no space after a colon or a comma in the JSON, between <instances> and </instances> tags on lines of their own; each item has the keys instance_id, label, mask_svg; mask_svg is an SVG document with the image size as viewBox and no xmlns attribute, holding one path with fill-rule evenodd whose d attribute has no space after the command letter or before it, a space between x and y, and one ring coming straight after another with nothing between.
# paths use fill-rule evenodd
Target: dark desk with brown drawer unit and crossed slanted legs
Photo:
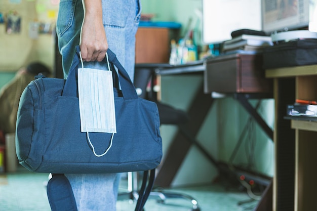
<instances>
[{"instance_id":1,"label":"dark desk with brown drawer unit and crossed slanted legs","mask_svg":"<svg viewBox=\"0 0 317 211\"><path fill-rule=\"evenodd\" d=\"M191 121L184 125L183 128L180 128L181 132L178 132L175 136L168 153L166 153L165 160L167 161L162 164L157 174L156 185L161 187L170 186L192 144L196 145L212 163L216 166L218 165L217 160L211 157L206 152L206 149L200 146L199 142L194 138L212 106L214 99L210 96L211 92L222 92L234 97L260 124L267 136L273 139L272 130L248 102L248 99L251 98L272 98L272 80L265 78L261 55L234 54L219 56L218 58L197 61L186 65L157 68L155 72L159 75L204 74L204 84L202 84L201 89L188 109ZM215 81L219 82L220 80L222 81L217 83L215 87ZM191 142L184 142L184 132L191 135ZM272 197L270 196L270 198ZM268 209L257 210L267 211Z\"/></svg>"}]
</instances>

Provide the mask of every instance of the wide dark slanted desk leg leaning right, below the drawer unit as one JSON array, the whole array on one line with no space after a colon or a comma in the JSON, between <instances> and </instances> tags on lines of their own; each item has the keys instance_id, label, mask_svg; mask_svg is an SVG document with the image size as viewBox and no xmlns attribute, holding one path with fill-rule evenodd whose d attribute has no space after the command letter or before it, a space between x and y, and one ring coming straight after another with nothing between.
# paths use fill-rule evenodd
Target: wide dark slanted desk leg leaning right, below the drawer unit
<instances>
[{"instance_id":1,"label":"wide dark slanted desk leg leaning right, below the drawer unit","mask_svg":"<svg viewBox=\"0 0 317 211\"><path fill-rule=\"evenodd\" d=\"M188 110L190 120L184 125L190 129L192 137L196 137L213 103L213 99L210 95L204 94L203 88L202 85L200 89L197 90L193 103ZM188 141L188 137L182 133L181 130L177 132L165 156L164 162L159 166L159 173L155 179L156 186L169 187L171 185L193 143L191 140Z\"/></svg>"}]
</instances>

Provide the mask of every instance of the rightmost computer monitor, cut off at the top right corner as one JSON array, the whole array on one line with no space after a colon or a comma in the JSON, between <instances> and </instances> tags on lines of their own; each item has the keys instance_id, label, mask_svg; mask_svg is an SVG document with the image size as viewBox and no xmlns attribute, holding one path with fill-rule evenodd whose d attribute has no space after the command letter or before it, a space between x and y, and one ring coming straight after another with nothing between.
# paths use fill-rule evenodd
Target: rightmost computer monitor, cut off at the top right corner
<instances>
[{"instance_id":1,"label":"rightmost computer monitor, cut off at the top right corner","mask_svg":"<svg viewBox=\"0 0 317 211\"><path fill-rule=\"evenodd\" d=\"M262 30L273 32L314 27L316 0L261 0Z\"/></svg>"}]
</instances>

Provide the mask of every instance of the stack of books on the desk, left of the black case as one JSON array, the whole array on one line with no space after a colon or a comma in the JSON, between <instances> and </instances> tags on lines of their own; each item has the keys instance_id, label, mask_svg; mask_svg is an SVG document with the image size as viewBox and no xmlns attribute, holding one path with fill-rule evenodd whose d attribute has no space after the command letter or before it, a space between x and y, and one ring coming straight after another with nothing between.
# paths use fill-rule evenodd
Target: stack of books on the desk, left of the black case
<instances>
[{"instance_id":1,"label":"stack of books on the desk, left of the black case","mask_svg":"<svg viewBox=\"0 0 317 211\"><path fill-rule=\"evenodd\" d=\"M230 40L223 42L223 52L249 52L249 53L261 53L263 48L272 46L272 39L270 36L259 36L242 34L234 37Z\"/></svg>"}]
</instances>

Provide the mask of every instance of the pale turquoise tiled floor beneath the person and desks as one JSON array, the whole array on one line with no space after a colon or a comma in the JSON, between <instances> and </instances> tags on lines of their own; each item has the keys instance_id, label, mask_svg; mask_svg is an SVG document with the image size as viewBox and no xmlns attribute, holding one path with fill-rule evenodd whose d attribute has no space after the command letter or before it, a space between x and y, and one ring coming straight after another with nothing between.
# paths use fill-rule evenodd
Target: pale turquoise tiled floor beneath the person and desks
<instances>
[{"instance_id":1,"label":"pale turquoise tiled floor beneath the person and desks","mask_svg":"<svg viewBox=\"0 0 317 211\"><path fill-rule=\"evenodd\" d=\"M45 188L47 180L47 174L30 173L23 168L19 168L16 173L0 174L0 211L50 211ZM123 180L120 190L125 191L125 188L126 182ZM216 184L166 191L192 196L202 211L253 210L258 203L250 202L245 191L228 191ZM148 199L145 211L189 211L192 207L189 200L185 199L167 199L165 204L158 203L156 199L159 198ZM135 202L132 203L128 198L118 200L117 211L132 211L134 206Z\"/></svg>"}]
</instances>

